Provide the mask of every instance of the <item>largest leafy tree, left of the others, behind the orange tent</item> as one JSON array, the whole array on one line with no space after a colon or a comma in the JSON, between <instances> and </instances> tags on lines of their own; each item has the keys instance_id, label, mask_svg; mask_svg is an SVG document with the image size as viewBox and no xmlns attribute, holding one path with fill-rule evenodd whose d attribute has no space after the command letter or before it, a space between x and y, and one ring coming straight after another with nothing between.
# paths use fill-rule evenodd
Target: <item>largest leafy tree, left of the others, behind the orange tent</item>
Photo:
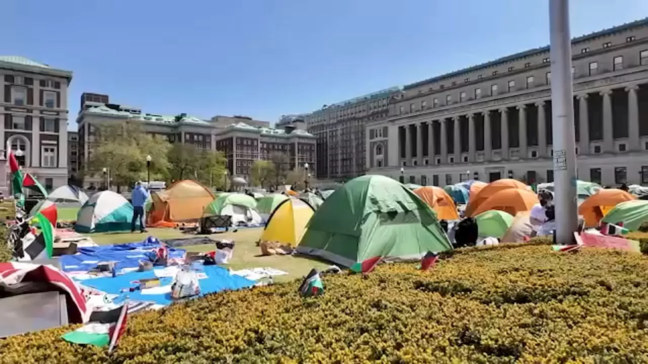
<instances>
[{"instance_id":1,"label":"largest leafy tree, left of the others, behind the orange tent","mask_svg":"<svg viewBox=\"0 0 648 364\"><path fill-rule=\"evenodd\" d=\"M98 124L95 130L90 170L100 172L107 168L111 184L117 186L117 190L146 179L146 155L151 156L152 176L167 174L170 145L166 139L144 133L133 122Z\"/></svg>"}]
</instances>

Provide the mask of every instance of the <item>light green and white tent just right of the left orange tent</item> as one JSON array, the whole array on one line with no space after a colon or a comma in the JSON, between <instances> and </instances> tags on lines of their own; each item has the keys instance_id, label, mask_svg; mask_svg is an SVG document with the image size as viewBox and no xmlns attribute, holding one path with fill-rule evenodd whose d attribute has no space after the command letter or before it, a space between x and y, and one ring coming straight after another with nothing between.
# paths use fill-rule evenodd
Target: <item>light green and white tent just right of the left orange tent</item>
<instances>
[{"instance_id":1,"label":"light green and white tent just right of the left orange tent","mask_svg":"<svg viewBox=\"0 0 648 364\"><path fill-rule=\"evenodd\" d=\"M224 193L218 195L212 203L207 205L203 216L229 215L232 217L232 225L247 223L248 225L260 225L263 218L257 211L257 200L246 194Z\"/></svg>"}]
</instances>

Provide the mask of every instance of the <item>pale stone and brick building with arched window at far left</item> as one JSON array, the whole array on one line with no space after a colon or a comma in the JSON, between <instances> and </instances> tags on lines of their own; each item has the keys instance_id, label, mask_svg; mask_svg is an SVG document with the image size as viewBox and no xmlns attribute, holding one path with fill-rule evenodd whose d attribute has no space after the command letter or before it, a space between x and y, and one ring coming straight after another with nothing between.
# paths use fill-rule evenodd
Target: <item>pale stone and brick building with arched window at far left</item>
<instances>
[{"instance_id":1,"label":"pale stone and brick building with arched window at far left","mask_svg":"<svg viewBox=\"0 0 648 364\"><path fill-rule=\"evenodd\" d=\"M67 184L67 87L72 73L19 56L0 56L0 80L3 157L14 152L23 171L48 190Z\"/></svg>"}]
</instances>

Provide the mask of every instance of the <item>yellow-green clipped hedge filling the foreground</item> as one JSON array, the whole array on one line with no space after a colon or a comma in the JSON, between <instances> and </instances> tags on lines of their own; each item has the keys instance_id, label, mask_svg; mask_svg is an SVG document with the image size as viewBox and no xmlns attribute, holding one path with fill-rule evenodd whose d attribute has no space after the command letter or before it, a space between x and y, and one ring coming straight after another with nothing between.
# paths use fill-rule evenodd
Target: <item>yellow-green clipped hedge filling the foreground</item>
<instances>
[{"instance_id":1,"label":"yellow-green clipped hedge filling the foreground","mask_svg":"<svg viewBox=\"0 0 648 364\"><path fill-rule=\"evenodd\" d=\"M0 340L2 363L641 363L648 360L648 258L531 244L467 249L431 271L383 265L210 295L133 315L105 349L71 328Z\"/></svg>"}]
</instances>

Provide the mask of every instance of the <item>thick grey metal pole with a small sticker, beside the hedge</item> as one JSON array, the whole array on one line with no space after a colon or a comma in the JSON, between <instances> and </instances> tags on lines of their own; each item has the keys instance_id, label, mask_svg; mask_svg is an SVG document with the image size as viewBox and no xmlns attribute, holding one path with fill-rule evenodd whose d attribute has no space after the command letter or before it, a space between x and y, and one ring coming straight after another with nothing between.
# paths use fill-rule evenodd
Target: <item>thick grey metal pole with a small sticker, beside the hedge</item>
<instances>
[{"instance_id":1,"label":"thick grey metal pole with a small sticker, beside the hedge","mask_svg":"<svg viewBox=\"0 0 648 364\"><path fill-rule=\"evenodd\" d=\"M572 41L569 1L549 1L551 44L551 121L556 243L571 244L578 228L576 142L573 126Z\"/></svg>"}]
</instances>

